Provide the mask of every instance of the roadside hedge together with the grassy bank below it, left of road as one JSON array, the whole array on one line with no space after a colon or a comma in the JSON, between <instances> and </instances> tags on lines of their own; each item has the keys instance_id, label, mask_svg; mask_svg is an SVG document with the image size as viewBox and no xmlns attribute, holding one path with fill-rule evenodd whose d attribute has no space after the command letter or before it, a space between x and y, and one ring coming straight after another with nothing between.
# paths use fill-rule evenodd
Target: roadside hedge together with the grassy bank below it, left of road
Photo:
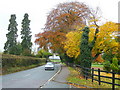
<instances>
[{"instance_id":1,"label":"roadside hedge together with the grassy bank below it, left of road","mask_svg":"<svg viewBox=\"0 0 120 90\"><path fill-rule=\"evenodd\" d=\"M2 54L2 73L10 74L45 64L46 58Z\"/></svg>"}]
</instances>

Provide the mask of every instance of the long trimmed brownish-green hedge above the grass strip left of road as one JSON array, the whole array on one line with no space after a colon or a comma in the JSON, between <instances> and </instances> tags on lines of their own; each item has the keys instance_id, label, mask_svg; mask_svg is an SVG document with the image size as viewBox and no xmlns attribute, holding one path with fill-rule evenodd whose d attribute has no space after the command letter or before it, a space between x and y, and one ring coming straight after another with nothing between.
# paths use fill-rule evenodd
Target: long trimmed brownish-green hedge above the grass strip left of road
<instances>
[{"instance_id":1,"label":"long trimmed brownish-green hedge above the grass strip left of road","mask_svg":"<svg viewBox=\"0 0 120 90\"><path fill-rule=\"evenodd\" d=\"M2 67L20 67L45 63L45 58L2 54Z\"/></svg>"}]
</instances>

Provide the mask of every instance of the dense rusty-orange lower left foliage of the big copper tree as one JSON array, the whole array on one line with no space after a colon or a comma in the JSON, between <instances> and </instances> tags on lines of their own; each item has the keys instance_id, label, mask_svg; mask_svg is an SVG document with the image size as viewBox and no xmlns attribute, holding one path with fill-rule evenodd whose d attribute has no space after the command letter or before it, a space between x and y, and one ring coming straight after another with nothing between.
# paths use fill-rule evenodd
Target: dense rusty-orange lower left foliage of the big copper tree
<instances>
[{"instance_id":1,"label":"dense rusty-orange lower left foliage of the big copper tree","mask_svg":"<svg viewBox=\"0 0 120 90\"><path fill-rule=\"evenodd\" d=\"M61 42L65 40L65 34L62 32L46 31L36 34L36 37L35 43L39 45L39 48L48 49L49 47L53 50L62 49Z\"/></svg>"}]
</instances>

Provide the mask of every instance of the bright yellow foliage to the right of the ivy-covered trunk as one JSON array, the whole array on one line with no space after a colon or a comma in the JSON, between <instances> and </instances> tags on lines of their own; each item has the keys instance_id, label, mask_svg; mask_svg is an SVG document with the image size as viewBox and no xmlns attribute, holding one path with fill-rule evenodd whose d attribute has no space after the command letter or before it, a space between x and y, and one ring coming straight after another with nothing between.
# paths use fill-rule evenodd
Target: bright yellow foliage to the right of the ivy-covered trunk
<instances>
[{"instance_id":1,"label":"bright yellow foliage to the right of the ivy-covered trunk","mask_svg":"<svg viewBox=\"0 0 120 90\"><path fill-rule=\"evenodd\" d=\"M97 40L96 40L96 49L99 49L100 47L103 48L104 51L107 48L114 47L116 41L113 38L114 32L118 30L118 26L116 23L113 22L106 22L104 25L100 26L99 33L97 34Z\"/></svg>"}]
</instances>

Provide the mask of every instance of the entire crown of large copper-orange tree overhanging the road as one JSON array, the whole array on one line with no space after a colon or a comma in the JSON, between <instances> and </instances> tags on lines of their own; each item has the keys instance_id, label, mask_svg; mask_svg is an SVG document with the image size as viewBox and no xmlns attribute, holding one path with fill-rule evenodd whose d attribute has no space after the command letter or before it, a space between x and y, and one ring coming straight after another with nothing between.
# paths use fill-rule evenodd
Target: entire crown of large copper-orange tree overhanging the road
<instances>
[{"instance_id":1,"label":"entire crown of large copper-orange tree overhanging the road","mask_svg":"<svg viewBox=\"0 0 120 90\"><path fill-rule=\"evenodd\" d=\"M44 32L36 35L36 43L40 47L48 48L59 54L65 53L62 42L66 34L74 31L76 26L86 25L90 14L89 7L80 2L60 3L47 16ZM60 55L60 56L61 56Z\"/></svg>"}]
</instances>

